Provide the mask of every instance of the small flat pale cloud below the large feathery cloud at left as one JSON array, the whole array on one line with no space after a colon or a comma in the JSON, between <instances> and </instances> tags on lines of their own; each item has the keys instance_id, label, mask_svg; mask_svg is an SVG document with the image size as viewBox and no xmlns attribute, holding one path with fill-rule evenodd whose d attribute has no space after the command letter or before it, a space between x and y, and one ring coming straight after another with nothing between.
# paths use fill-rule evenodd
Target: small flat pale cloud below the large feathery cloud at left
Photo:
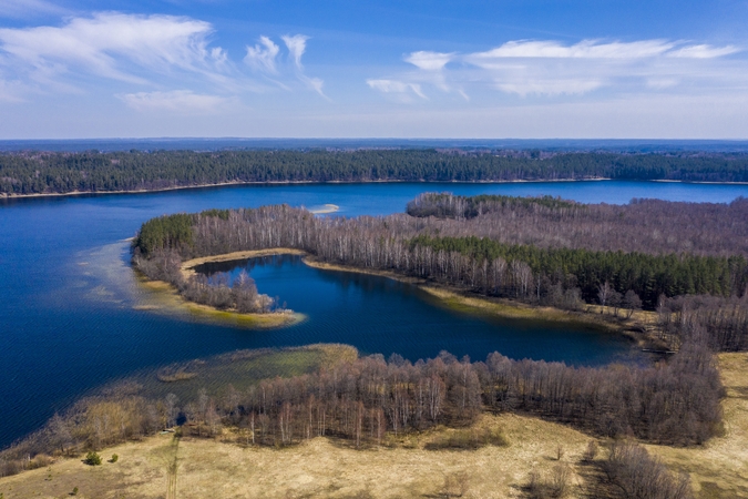
<instances>
[{"instance_id":1,"label":"small flat pale cloud below the large feathery cloud at left","mask_svg":"<svg viewBox=\"0 0 748 499\"><path fill-rule=\"evenodd\" d=\"M177 114L213 113L222 110L229 102L219 95L193 93L189 90L171 92L137 92L119 95L129 106L136 111L165 111Z\"/></svg>"}]
</instances>

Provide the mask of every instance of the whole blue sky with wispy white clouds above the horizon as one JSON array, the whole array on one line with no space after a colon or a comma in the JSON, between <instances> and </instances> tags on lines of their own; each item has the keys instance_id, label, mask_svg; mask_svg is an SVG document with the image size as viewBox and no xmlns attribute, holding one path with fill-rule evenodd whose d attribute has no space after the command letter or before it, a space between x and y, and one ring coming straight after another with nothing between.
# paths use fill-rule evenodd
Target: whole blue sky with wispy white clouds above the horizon
<instances>
[{"instance_id":1,"label":"whole blue sky with wispy white clouds above the horizon","mask_svg":"<svg viewBox=\"0 0 748 499\"><path fill-rule=\"evenodd\" d=\"M0 140L748 139L748 0L0 0Z\"/></svg>"}]
</instances>

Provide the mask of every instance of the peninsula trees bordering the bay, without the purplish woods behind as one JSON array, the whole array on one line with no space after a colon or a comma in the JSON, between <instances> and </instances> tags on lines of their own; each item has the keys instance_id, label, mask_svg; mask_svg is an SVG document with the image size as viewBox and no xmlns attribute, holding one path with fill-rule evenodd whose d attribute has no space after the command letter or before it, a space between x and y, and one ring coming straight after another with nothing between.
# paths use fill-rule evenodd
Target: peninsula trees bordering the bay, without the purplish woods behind
<instances>
[{"instance_id":1,"label":"peninsula trees bordering the bay, without the purplish woods behind","mask_svg":"<svg viewBox=\"0 0 748 499\"><path fill-rule=\"evenodd\" d=\"M166 216L158 224L143 225L134 246L136 268L154 278L170 281L168 276L173 275L178 279L182 259L294 247L326 262L393 271L485 296L570 309L581 308L585 301L655 309L668 297L696 293L737 299L745 296L748 283L748 263L744 256L539 248L506 245L488 237L436 235L461 234L465 231L465 221L407 215L316 217L285 205L264 206L229 211L225 217L207 213L191 215L192 240L182 241L167 227L173 220L175 231L181 231L183 216ZM160 232L163 230L166 232ZM148 243L141 244L141 241ZM171 282L181 286L178 281ZM745 298L736 303L739 310L748 308ZM731 320L729 327L734 333L729 340L714 320L704 324L707 333L714 334L716 347L734 349L736 345L744 345L748 338L748 330L740 322L744 315L720 317ZM719 326L724 327L727 326ZM674 334L672 343L677 347L683 332L678 328Z\"/></svg>"}]
</instances>

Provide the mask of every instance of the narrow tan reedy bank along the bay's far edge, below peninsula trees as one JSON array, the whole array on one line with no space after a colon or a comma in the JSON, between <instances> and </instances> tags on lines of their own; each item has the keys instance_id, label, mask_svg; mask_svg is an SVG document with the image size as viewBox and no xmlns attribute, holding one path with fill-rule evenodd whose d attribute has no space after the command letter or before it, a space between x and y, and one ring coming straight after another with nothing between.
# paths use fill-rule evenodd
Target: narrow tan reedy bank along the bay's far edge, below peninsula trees
<instances>
[{"instance_id":1,"label":"narrow tan reedy bank along the bay's far edge, below peninsula trees","mask_svg":"<svg viewBox=\"0 0 748 499\"><path fill-rule=\"evenodd\" d=\"M520 302L514 302L505 298L493 298L486 296L478 296L467 293L464 289L457 287L449 287L433 282L426 281L418 277L398 274L392 271L379 271L372 268L359 268L348 265L332 264L329 262L321 262L314 255L310 255L301 249L277 247L266 249L253 249L246 252L234 252L222 255L205 256L193 258L182 264L181 271L185 278L195 275L195 267L211 262L232 262L238 259L256 258L260 256L270 255L299 255L303 256L303 262L314 268L324 271L340 271L353 272L358 274L376 275L396 279L402 283L408 283L418 286L420 289L436 297L441 304L450 308L471 309L474 312L488 313L499 317L511 319L531 319L531 320L546 320L553 323L568 323L581 324L586 326L594 326L604 328L617 334L623 334L635 340L638 346L652 349L666 349L650 332L656 324L656 314L654 312L637 310L632 314L631 318L624 319L613 318L611 307L601 307L597 305L585 305L583 310L570 312L554 307L535 307ZM201 307L204 307L201 305ZM211 307L205 307L211 308ZM621 315L625 315L626 310L621 308ZM257 314L264 315L264 314Z\"/></svg>"}]
</instances>

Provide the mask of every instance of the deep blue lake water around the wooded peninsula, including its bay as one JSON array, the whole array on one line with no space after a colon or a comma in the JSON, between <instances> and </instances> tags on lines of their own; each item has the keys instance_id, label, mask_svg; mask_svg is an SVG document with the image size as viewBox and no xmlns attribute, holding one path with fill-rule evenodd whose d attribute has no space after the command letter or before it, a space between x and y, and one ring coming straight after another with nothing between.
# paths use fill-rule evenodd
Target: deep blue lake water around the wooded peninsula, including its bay
<instances>
[{"instance_id":1,"label":"deep blue lake water around the wooded peninsula, including its bay","mask_svg":"<svg viewBox=\"0 0 748 499\"><path fill-rule=\"evenodd\" d=\"M389 214L419 192L551 194L583 202L632 197L729 202L745 185L636 182L521 184L339 184L247 186L154 194L53 197L0 204L0 447L38 428L86 390L145 368L238 348L351 344L411 359L448 349L484 358L600 364L626 357L609 335L509 323L436 306L417 289L370 276L326 273L295 259L252 269L260 292L308 320L246 330L134 309L142 292L126 265L127 243L146 220L208 207L332 203L339 214Z\"/></svg>"}]
</instances>

